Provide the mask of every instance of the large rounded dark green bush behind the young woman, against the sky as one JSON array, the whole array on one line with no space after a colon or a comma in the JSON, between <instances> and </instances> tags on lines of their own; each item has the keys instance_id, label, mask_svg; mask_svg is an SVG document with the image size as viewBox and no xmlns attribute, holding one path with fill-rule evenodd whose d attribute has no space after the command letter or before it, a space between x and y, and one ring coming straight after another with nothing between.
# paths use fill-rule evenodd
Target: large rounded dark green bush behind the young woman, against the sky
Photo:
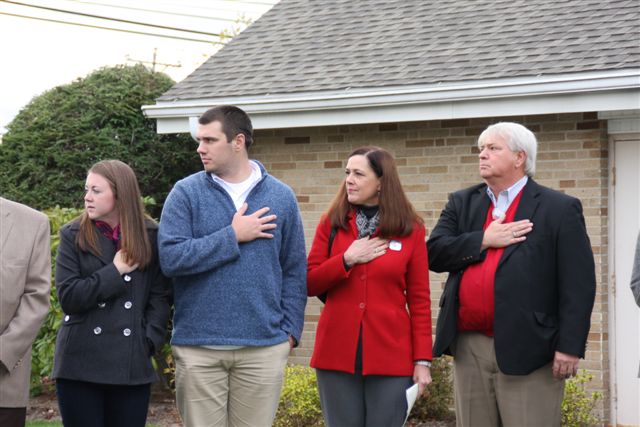
<instances>
[{"instance_id":1,"label":"large rounded dark green bush behind the young woman, against the sky","mask_svg":"<svg viewBox=\"0 0 640 427\"><path fill-rule=\"evenodd\" d=\"M186 134L158 135L140 109L173 81L141 65L103 68L35 97L7 125L0 145L3 196L39 210L80 208L87 169L119 159L136 172L159 217L174 182L201 169Z\"/></svg>"}]
</instances>

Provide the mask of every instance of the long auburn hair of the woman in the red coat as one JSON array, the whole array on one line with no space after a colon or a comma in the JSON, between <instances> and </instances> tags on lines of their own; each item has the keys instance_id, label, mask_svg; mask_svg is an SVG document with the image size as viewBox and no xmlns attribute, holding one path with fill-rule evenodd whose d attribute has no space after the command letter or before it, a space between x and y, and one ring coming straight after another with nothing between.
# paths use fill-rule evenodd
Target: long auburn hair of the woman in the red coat
<instances>
[{"instance_id":1,"label":"long auburn hair of the woman in the red coat","mask_svg":"<svg viewBox=\"0 0 640 427\"><path fill-rule=\"evenodd\" d=\"M380 147L360 147L349 154L349 158L353 156L364 156L373 172L380 178L380 237L406 236L411 233L414 224L424 223L402 189L396 162L391 153ZM342 181L338 194L333 198L326 214L331 226L346 229L348 215L352 209L353 205L347 199L345 181Z\"/></svg>"}]
</instances>

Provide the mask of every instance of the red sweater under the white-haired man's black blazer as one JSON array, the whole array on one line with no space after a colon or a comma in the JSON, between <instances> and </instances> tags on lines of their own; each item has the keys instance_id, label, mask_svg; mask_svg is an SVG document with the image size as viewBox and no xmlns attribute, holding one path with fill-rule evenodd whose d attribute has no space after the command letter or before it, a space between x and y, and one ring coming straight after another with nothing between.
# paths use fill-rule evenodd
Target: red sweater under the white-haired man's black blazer
<instances>
[{"instance_id":1,"label":"red sweater under the white-haired man's black blazer","mask_svg":"<svg viewBox=\"0 0 640 427\"><path fill-rule=\"evenodd\" d=\"M518 193L505 213L503 223L513 222L520 196ZM483 230L486 230L493 218L493 205L489 204ZM460 282L460 309L458 310L458 330L476 331L493 336L494 284L496 270L504 248L489 248L485 259L470 265L464 271Z\"/></svg>"}]
</instances>

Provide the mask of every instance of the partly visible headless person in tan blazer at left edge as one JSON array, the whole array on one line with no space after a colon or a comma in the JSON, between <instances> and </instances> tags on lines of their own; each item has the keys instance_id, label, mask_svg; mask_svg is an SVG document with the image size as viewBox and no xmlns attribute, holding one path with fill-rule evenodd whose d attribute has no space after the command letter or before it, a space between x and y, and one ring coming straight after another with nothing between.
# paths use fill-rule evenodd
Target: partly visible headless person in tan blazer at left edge
<instances>
[{"instance_id":1,"label":"partly visible headless person in tan blazer at left edge","mask_svg":"<svg viewBox=\"0 0 640 427\"><path fill-rule=\"evenodd\" d=\"M49 310L49 219L0 197L0 426L24 426L31 344Z\"/></svg>"}]
</instances>

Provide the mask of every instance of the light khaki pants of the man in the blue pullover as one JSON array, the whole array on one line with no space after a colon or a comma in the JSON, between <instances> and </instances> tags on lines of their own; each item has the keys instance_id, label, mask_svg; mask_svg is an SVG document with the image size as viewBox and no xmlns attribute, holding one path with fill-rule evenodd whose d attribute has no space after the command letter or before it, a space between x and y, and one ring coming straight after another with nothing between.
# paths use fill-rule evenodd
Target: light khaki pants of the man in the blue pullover
<instances>
[{"instance_id":1,"label":"light khaki pants of the man in the blue pullover","mask_svg":"<svg viewBox=\"0 0 640 427\"><path fill-rule=\"evenodd\" d=\"M186 427L273 423L289 343L238 350L173 346L176 400Z\"/></svg>"}]
</instances>

